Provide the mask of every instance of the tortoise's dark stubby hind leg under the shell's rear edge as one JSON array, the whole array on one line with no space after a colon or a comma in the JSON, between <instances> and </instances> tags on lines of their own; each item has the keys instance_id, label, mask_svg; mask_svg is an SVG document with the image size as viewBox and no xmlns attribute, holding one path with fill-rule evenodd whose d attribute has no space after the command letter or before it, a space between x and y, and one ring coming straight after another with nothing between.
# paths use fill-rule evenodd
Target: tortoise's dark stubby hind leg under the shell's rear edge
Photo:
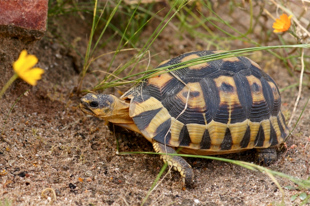
<instances>
[{"instance_id":1,"label":"tortoise's dark stubby hind leg under the shell's rear edge","mask_svg":"<svg viewBox=\"0 0 310 206\"><path fill-rule=\"evenodd\" d=\"M256 149L255 161L258 165L269 166L277 161L276 148Z\"/></svg>"}]
</instances>

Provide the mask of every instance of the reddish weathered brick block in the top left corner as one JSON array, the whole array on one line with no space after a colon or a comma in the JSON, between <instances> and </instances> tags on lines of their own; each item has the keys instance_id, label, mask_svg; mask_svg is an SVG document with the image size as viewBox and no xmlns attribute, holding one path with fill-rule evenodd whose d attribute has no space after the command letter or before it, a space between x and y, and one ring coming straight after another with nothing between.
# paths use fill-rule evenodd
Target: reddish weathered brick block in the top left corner
<instances>
[{"instance_id":1,"label":"reddish weathered brick block in the top left corner","mask_svg":"<svg viewBox=\"0 0 310 206\"><path fill-rule=\"evenodd\" d=\"M0 1L0 37L29 42L46 31L48 0Z\"/></svg>"}]
</instances>

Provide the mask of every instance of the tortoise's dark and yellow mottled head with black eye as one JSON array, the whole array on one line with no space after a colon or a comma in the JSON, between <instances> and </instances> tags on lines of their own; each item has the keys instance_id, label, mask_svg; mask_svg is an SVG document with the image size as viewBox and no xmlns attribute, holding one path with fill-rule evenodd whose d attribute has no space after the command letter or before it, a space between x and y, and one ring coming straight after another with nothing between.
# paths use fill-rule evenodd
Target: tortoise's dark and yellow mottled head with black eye
<instances>
[{"instance_id":1,"label":"tortoise's dark and yellow mottled head with black eye","mask_svg":"<svg viewBox=\"0 0 310 206\"><path fill-rule=\"evenodd\" d=\"M80 109L85 114L108 120L113 114L115 98L113 95L88 93L81 98Z\"/></svg>"}]
</instances>

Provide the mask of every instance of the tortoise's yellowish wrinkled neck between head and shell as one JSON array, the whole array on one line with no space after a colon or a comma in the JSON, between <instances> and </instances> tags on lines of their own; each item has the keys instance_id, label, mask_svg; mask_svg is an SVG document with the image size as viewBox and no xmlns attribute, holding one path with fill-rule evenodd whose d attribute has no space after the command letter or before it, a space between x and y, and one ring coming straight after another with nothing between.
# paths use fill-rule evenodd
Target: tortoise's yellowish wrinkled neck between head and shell
<instances>
[{"instance_id":1,"label":"tortoise's yellowish wrinkled neck between head and shell","mask_svg":"<svg viewBox=\"0 0 310 206\"><path fill-rule=\"evenodd\" d=\"M122 100L112 95L115 99L114 108L111 116L107 119L114 124L129 124L134 123L133 119L129 117L129 101Z\"/></svg>"}]
</instances>

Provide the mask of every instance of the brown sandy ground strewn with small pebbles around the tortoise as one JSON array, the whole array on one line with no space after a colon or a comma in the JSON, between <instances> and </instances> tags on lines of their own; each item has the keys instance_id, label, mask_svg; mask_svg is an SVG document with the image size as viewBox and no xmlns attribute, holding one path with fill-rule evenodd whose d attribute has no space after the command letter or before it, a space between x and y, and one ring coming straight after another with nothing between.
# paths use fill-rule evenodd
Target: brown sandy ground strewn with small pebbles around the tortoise
<instances>
[{"instance_id":1,"label":"brown sandy ground strewn with small pebbles around the tortoise","mask_svg":"<svg viewBox=\"0 0 310 206\"><path fill-rule=\"evenodd\" d=\"M225 5L227 6L227 5ZM55 191L57 200L54 205L140 205L153 184L162 162L156 155L116 155L116 140L103 120L83 114L79 107L82 95L73 92L77 85L78 72L82 60L78 54L62 41L60 36L84 54L86 34L90 27L78 16L62 16L49 19L46 35L33 45L27 45L29 53L39 58L38 66L45 69L38 85L31 87L17 80L0 100L1 129L4 120L16 99L27 89L27 97L21 97L7 118L4 133L0 139L0 200L11 200L11 205L46 205L53 200L51 192L41 193L45 188ZM158 22L153 21L156 25ZM272 24L272 20L268 21ZM141 41L150 35L152 27L141 34ZM109 34L110 35L110 34ZM185 35L186 36L186 35ZM187 36L180 38L175 30L167 27L152 46L152 68L159 62L184 52L207 48L200 39ZM113 51L119 40L110 42L98 54ZM16 43L18 40L2 40ZM235 43L235 45L234 45ZM279 44L273 42L274 44ZM199 48L198 46L199 45ZM227 49L244 48L247 45L232 41ZM215 49L215 48L210 48ZM16 49L18 50L18 49ZM16 59L16 50L7 52ZM115 69L120 63L128 61L134 52L119 55L113 64ZM283 64L267 52L252 56L260 66L272 76L279 88L297 82L291 77ZM94 68L108 67L111 56L95 62ZM9 64L9 63L7 63ZM139 67L145 68L147 62ZM138 70L139 71L139 70ZM295 74L297 77L299 73ZM305 78L306 79L306 78ZM90 88L93 75L87 75L83 87ZM114 93L118 89L108 89ZM120 88L122 92L126 88ZM297 97L298 88L294 87L281 93L282 111L290 117ZM303 87L296 116L290 129L305 105L310 91ZM307 179L305 155L299 143L307 142L309 135L310 107L307 106L296 129L287 141L288 145L297 144L290 150L283 163L273 164L271 170L280 171L296 178ZM120 140L120 151L149 151L152 145L143 137L132 135ZM307 148L308 152L308 148ZM284 150L278 151L278 161L283 158ZM254 161L255 151L229 154L224 157L241 161ZM146 200L145 205L271 205L281 203L281 192L266 175L219 161L186 158L192 165L195 176L193 188L183 188L179 174L172 172L158 185ZM167 171L167 170L166 170ZM278 178L281 186L294 183ZM185 190L184 190L185 189ZM308 191L285 189L286 205L298 205L300 198L291 201L292 195Z\"/></svg>"}]
</instances>

